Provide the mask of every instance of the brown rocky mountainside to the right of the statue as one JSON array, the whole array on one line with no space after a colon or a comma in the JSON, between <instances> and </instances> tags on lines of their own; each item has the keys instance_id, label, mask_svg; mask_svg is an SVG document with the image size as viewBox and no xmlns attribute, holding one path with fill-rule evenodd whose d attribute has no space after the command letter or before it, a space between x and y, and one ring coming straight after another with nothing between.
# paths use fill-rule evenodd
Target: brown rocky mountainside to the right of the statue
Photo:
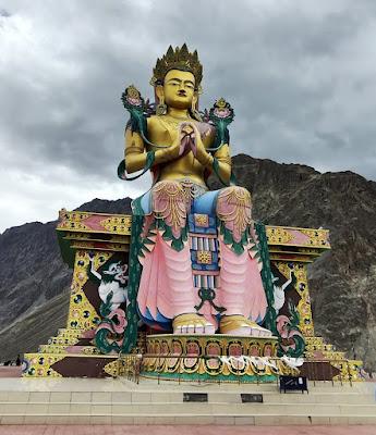
<instances>
[{"instance_id":1,"label":"brown rocky mountainside to the right of the statue","mask_svg":"<svg viewBox=\"0 0 376 435\"><path fill-rule=\"evenodd\" d=\"M376 183L243 154L234 167L255 219L330 231L332 249L308 274L316 335L376 371Z\"/></svg>"}]
</instances>

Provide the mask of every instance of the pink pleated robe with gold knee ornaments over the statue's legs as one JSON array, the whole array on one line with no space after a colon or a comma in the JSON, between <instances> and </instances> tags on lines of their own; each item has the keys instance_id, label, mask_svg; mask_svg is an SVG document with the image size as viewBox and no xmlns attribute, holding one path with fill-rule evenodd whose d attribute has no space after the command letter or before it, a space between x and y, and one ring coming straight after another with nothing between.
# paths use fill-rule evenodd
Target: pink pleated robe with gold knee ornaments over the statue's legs
<instances>
[{"instance_id":1,"label":"pink pleated robe with gold knee ornaments over the statue's legs","mask_svg":"<svg viewBox=\"0 0 376 435\"><path fill-rule=\"evenodd\" d=\"M202 198L205 199L205 195ZM232 186L220 190L216 201L217 216L232 234L233 240L239 243L244 231L252 228L250 194L241 187ZM173 236L179 238L191 206L178 182L157 183L151 189L154 214L145 217L144 233L147 233L147 226L153 223L155 215L162 219ZM171 241L162 238L162 229L155 229L153 234L154 245L148 245L149 251L144 251L145 257L140 258L143 271L137 303L140 313L144 320L148 320L147 323L155 327L159 324L161 328L169 328L168 322L175 316L197 312L217 327L220 313L216 306L226 309L222 312L225 315L241 314L255 322L263 321L267 300L259 273L262 264L253 258L251 250L255 245L254 234L253 240L250 235L241 253L235 253L226 245L221 235L217 236L220 271L216 296L213 304L206 300L198 311L196 307L201 302L199 288L193 282L189 240L184 241L181 250L175 250Z\"/></svg>"}]
</instances>

